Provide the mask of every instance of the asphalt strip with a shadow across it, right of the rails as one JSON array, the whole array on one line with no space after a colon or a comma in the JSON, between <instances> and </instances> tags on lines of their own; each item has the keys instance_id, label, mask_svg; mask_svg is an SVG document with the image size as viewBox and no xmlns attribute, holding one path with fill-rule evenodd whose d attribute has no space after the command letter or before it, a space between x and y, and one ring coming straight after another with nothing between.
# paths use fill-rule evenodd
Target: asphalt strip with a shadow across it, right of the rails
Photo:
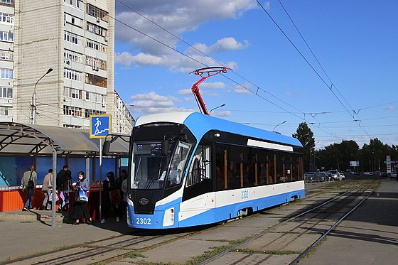
<instances>
[{"instance_id":1,"label":"asphalt strip with a shadow across it, right of the rails","mask_svg":"<svg viewBox=\"0 0 398 265\"><path fill-rule=\"evenodd\" d=\"M383 180L300 264L395 264L397 249L398 181Z\"/></svg>"}]
</instances>

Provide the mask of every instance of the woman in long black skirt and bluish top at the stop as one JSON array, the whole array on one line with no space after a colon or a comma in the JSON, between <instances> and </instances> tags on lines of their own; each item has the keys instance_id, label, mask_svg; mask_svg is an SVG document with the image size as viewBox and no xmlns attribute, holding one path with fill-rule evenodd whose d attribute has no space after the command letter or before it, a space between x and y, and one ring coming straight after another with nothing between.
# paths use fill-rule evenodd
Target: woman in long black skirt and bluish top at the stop
<instances>
[{"instance_id":1,"label":"woman in long black skirt and bluish top at the stop","mask_svg":"<svg viewBox=\"0 0 398 265\"><path fill-rule=\"evenodd\" d=\"M79 181L76 183L76 191L77 190L85 190L85 192L90 190L90 184L88 183L87 178L85 178L85 173L80 171L77 173L79 177ZM90 212L88 212L87 202L85 201L76 201L73 202L72 210L70 210L69 218L71 220L75 220L72 225L79 225L80 219L85 218L88 225L92 224L92 218L90 217Z\"/></svg>"}]
</instances>

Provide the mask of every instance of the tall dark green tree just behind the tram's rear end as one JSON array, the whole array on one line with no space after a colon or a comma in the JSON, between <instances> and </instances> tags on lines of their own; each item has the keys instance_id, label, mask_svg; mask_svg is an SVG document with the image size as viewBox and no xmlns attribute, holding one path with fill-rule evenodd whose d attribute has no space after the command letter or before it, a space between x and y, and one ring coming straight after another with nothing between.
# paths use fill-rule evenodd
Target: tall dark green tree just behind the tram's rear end
<instances>
[{"instance_id":1,"label":"tall dark green tree just behind the tram's rear end","mask_svg":"<svg viewBox=\"0 0 398 265\"><path fill-rule=\"evenodd\" d=\"M313 138L313 132L306 122L298 124L296 134L292 134L291 136L298 139L303 145L304 171L315 170L313 163L311 163L311 153L315 156L315 139Z\"/></svg>"}]
</instances>

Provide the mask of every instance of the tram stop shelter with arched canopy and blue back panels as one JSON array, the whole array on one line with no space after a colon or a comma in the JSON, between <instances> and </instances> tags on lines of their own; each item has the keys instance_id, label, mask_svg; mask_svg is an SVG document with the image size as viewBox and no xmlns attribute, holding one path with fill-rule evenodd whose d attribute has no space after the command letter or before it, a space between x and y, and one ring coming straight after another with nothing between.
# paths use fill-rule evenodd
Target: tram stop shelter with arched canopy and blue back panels
<instances>
[{"instance_id":1,"label":"tram stop shelter with arched canopy and blue back panels","mask_svg":"<svg viewBox=\"0 0 398 265\"><path fill-rule=\"evenodd\" d=\"M121 158L126 157L129 150L129 135L118 136L111 145L112 156L104 158L116 175ZM72 175L85 171L91 183L96 180L95 175L101 180L101 172L96 172L98 168L101 171L99 150L99 139L90 139L88 129L0 122L0 212L14 210L14 202L4 198L5 192L18 190L23 172L30 164L36 166L38 183L48 168L53 168L53 183L56 183L57 168L62 169L64 164L69 166L71 163L76 165L76 172L72 171ZM18 208L21 209L20 206ZM55 215L55 207L53 212Z\"/></svg>"}]
</instances>

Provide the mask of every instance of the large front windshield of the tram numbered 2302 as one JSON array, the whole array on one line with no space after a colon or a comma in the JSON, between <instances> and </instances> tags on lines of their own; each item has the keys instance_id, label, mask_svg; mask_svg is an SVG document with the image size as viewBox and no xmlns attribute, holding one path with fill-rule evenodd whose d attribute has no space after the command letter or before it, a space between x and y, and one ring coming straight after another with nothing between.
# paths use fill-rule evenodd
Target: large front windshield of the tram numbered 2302
<instances>
[{"instance_id":1,"label":"large front windshield of the tram numbered 2302","mask_svg":"<svg viewBox=\"0 0 398 265\"><path fill-rule=\"evenodd\" d=\"M131 188L154 190L181 184L191 147L183 141L171 141L168 155L162 156L161 142L134 143Z\"/></svg>"}]
</instances>

